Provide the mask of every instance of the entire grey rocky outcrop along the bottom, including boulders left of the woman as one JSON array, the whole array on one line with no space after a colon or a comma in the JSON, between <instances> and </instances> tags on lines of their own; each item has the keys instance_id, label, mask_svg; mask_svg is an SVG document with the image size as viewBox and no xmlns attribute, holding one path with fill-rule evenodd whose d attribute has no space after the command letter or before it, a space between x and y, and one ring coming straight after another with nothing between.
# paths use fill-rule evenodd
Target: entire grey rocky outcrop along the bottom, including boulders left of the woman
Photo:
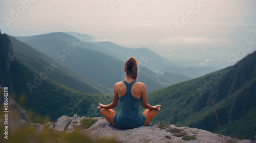
<instances>
[{"instance_id":1,"label":"entire grey rocky outcrop along the bottom, including boulders left of the woman","mask_svg":"<svg viewBox=\"0 0 256 143\"><path fill-rule=\"evenodd\" d=\"M56 123L48 122L46 124L30 124L36 127L38 131L44 128L49 131L65 132L65 134L72 133L75 128L81 126L81 120L87 117L73 117L61 116ZM80 133L90 135L92 138L112 138L114 137L119 142L222 142L219 134L211 133L206 130L189 127L177 127L175 125L162 124L148 124L147 126L120 130L112 126L103 117L94 117L97 120L90 128L80 129ZM181 135L194 136L195 139L184 140L185 137ZM238 140L228 136L222 136L224 142L238 142L238 143L253 143L252 140ZM256 136L255 136L256 137ZM184 139L183 139L184 138Z\"/></svg>"}]
</instances>

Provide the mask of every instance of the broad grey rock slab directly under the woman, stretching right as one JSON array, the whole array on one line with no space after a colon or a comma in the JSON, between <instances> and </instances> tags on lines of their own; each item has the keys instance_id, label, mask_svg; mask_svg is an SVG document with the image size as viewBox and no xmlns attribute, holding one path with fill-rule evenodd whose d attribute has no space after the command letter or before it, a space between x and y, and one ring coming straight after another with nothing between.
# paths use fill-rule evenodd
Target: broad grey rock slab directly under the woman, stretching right
<instances>
[{"instance_id":1,"label":"broad grey rock slab directly under the woman, stretching right","mask_svg":"<svg viewBox=\"0 0 256 143\"><path fill-rule=\"evenodd\" d=\"M191 141L185 141L182 137L176 137L173 133L167 132L164 129L158 128L158 124L150 124L135 129L120 130L111 125L104 118L97 118L98 121L89 129L81 130L84 134L89 134L93 138L101 137L115 137L120 142L202 142L202 143L221 143L221 137L219 134L211 133L206 130L189 127L176 127L174 125L166 126L166 128L177 128L186 132L187 135L197 135L197 139ZM227 136L222 136L223 141L225 139L231 139ZM170 139L171 138L171 139ZM238 140L234 139L238 143L252 143L252 140Z\"/></svg>"}]
</instances>

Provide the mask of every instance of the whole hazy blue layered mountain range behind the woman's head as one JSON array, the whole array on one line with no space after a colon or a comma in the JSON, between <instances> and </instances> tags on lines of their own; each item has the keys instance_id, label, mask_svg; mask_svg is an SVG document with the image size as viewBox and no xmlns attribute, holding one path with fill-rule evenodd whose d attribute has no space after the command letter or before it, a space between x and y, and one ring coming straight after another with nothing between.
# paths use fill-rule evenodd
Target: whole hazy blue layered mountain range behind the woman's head
<instances>
[{"instance_id":1,"label":"whole hazy blue layered mountain range behind the woman's head","mask_svg":"<svg viewBox=\"0 0 256 143\"><path fill-rule=\"evenodd\" d=\"M165 79L158 78L159 76L163 76L163 74L156 74L147 67L157 68L157 65L160 67L161 63L165 63L161 65L162 67L167 65L168 60L161 58L161 56L146 48L129 49L111 42L104 42L105 44L100 42L84 42L69 34L60 32L16 38L59 63L66 65L78 74L90 78L110 89L113 88L116 82L123 79L124 62L132 56L132 53L134 53L134 57L138 57L137 60L140 63L138 81L145 83L147 91L190 79L186 77L181 79L176 78L173 81L165 82ZM79 45L75 46L74 40ZM65 53L63 49L68 49L69 45L74 45L74 51L66 51L67 53ZM102 47L103 45L104 47ZM127 56L124 57L124 54L127 54ZM122 59L120 59L121 57Z\"/></svg>"}]
</instances>

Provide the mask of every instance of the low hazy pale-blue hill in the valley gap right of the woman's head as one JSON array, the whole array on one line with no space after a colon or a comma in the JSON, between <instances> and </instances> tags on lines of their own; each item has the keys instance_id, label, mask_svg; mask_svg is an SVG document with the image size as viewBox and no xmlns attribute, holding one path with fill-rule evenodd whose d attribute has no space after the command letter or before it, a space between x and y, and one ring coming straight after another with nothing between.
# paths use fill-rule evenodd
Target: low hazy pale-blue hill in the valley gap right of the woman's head
<instances>
[{"instance_id":1,"label":"low hazy pale-blue hill in the valley gap right of the woman's head","mask_svg":"<svg viewBox=\"0 0 256 143\"><path fill-rule=\"evenodd\" d=\"M162 72L169 72L172 74L184 75L189 78L198 78L206 74L217 71L218 68L210 67L177 67L177 66L165 66L160 69Z\"/></svg>"}]
</instances>

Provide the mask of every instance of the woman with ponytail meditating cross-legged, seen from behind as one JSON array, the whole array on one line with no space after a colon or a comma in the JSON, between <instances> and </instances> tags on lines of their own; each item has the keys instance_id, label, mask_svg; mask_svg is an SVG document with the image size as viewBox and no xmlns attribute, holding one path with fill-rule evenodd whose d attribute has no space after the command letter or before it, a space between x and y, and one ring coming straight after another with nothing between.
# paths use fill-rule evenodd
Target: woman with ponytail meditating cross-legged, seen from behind
<instances>
[{"instance_id":1,"label":"woman with ponytail meditating cross-legged, seen from behind","mask_svg":"<svg viewBox=\"0 0 256 143\"><path fill-rule=\"evenodd\" d=\"M137 82L138 64L134 57L125 62L124 71L126 78L114 85L113 101L109 105L99 104L101 115L120 129L131 129L145 126L156 116L161 105L151 106L146 101L146 86ZM120 100L118 111L111 108L117 106ZM141 113L140 103L146 110Z\"/></svg>"}]
</instances>

